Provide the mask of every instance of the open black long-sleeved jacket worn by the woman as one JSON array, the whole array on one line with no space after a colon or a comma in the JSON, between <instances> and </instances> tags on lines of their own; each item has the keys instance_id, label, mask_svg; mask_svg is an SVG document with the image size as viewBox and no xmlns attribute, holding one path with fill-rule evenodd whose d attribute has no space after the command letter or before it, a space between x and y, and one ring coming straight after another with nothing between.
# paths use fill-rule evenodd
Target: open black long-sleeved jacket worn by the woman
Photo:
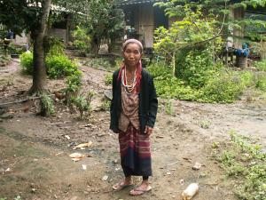
<instances>
[{"instance_id":1,"label":"open black long-sleeved jacket worn by the woman","mask_svg":"<svg viewBox=\"0 0 266 200\"><path fill-rule=\"evenodd\" d=\"M118 133L118 119L121 114L121 81L117 81L119 70L113 73L113 100L111 102L111 124L110 129L113 132ZM145 132L145 125L153 127L155 124L155 119L158 109L158 100L153 84L153 77L142 69L141 72L141 83L139 97L139 123L140 131Z\"/></svg>"}]
</instances>

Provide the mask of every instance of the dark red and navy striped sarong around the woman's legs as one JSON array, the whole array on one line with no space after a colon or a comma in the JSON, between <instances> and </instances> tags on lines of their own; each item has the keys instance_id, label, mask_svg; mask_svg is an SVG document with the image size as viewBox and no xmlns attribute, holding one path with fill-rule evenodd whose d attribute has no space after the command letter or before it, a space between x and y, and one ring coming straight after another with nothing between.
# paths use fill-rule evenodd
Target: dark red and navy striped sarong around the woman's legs
<instances>
[{"instance_id":1,"label":"dark red and navy striped sarong around the woman's legs","mask_svg":"<svg viewBox=\"0 0 266 200\"><path fill-rule=\"evenodd\" d=\"M126 132L119 133L121 167L126 177L152 176L150 138L129 124Z\"/></svg>"}]
</instances>

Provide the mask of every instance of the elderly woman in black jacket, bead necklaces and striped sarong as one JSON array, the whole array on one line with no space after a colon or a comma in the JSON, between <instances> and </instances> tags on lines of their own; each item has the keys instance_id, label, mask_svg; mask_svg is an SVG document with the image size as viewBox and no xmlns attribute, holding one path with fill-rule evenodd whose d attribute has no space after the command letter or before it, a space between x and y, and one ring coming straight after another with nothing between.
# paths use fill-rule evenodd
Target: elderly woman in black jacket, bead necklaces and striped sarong
<instances>
[{"instance_id":1,"label":"elderly woman in black jacket, bead necklaces and striped sarong","mask_svg":"<svg viewBox=\"0 0 266 200\"><path fill-rule=\"evenodd\" d=\"M121 190L132 185L131 176L142 176L142 183L130 191L138 196L152 187L152 159L150 135L157 115L158 100L153 77L142 68L143 45L129 39L122 45L123 65L113 73L111 125L119 133L121 167L125 179L113 186Z\"/></svg>"}]
</instances>

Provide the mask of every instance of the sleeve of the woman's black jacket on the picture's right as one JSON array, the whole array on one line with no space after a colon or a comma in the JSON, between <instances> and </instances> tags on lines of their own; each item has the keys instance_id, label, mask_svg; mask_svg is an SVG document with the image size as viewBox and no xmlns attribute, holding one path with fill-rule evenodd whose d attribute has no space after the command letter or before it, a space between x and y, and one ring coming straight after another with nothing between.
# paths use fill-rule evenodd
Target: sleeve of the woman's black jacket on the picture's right
<instances>
[{"instance_id":1,"label":"sleeve of the woman's black jacket on the picture's right","mask_svg":"<svg viewBox=\"0 0 266 200\"><path fill-rule=\"evenodd\" d=\"M152 76L150 76L148 84L149 84L149 112L148 112L149 114L148 114L147 125L153 128L157 116L158 100Z\"/></svg>"}]
</instances>

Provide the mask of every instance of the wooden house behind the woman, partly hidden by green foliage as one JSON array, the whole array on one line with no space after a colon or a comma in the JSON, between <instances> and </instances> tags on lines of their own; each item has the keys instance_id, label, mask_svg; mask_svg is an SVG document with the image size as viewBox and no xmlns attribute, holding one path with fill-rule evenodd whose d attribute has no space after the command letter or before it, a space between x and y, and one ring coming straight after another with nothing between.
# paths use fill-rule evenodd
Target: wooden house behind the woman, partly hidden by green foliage
<instances>
[{"instance_id":1,"label":"wooden house behind the woman, partly hidden by green foliage","mask_svg":"<svg viewBox=\"0 0 266 200\"><path fill-rule=\"evenodd\" d=\"M160 26L168 28L175 19L168 19L165 13L158 6L153 6L161 0L121 0L118 4L125 13L126 37L135 37L139 39L145 48L153 48L153 33ZM266 23L266 8L247 7L244 9L231 8L231 17L234 19L248 18L251 14L257 14L260 20ZM266 34L266 28L259 30L261 34ZM234 36L244 37L243 32L233 30ZM234 38L232 41L235 48L242 48L242 41ZM266 58L266 42L257 41L262 45L262 58Z\"/></svg>"}]
</instances>

